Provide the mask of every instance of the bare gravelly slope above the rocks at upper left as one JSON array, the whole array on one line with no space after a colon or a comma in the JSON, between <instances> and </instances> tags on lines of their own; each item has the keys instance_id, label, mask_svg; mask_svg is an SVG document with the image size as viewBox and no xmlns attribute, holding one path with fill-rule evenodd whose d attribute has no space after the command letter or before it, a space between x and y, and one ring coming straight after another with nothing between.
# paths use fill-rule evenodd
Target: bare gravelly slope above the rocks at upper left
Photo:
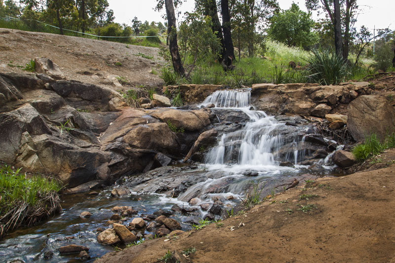
<instances>
[{"instance_id":1,"label":"bare gravelly slope above the rocks at upper left","mask_svg":"<svg viewBox=\"0 0 395 263\"><path fill-rule=\"evenodd\" d=\"M141 54L153 59L143 58ZM152 69L159 72L158 67L162 64L158 48L0 29L1 72L26 73L15 66L24 66L35 57L51 59L59 65L67 79L116 88L108 76L119 75L135 86L162 84L158 75L151 73ZM116 62L121 65L115 65Z\"/></svg>"}]
</instances>

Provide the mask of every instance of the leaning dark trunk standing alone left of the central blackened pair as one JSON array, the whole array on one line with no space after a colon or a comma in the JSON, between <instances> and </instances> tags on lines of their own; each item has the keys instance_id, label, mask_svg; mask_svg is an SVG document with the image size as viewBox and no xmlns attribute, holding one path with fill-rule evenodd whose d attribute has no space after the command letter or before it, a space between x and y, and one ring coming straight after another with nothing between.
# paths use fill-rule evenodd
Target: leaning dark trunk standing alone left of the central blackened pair
<instances>
[{"instance_id":1,"label":"leaning dark trunk standing alone left of the central blackened pair","mask_svg":"<svg viewBox=\"0 0 395 263\"><path fill-rule=\"evenodd\" d=\"M174 71L178 75L184 76L185 72L181 63L180 53L178 52L177 25L176 16L174 13L173 0L165 0L165 7L167 15L167 36L169 38L171 62L173 63Z\"/></svg>"}]
</instances>

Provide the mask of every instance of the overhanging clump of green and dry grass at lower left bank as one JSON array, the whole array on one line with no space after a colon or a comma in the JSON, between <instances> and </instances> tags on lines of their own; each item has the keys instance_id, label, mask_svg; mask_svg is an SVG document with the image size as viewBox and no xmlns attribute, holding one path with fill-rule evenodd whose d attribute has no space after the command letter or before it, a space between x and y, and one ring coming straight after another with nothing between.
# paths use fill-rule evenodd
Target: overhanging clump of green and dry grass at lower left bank
<instances>
[{"instance_id":1,"label":"overhanging clump of green and dry grass at lower left bank","mask_svg":"<svg viewBox=\"0 0 395 263\"><path fill-rule=\"evenodd\" d=\"M20 226L34 225L61 209L61 184L21 169L0 166L0 237Z\"/></svg>"}]
</instances>

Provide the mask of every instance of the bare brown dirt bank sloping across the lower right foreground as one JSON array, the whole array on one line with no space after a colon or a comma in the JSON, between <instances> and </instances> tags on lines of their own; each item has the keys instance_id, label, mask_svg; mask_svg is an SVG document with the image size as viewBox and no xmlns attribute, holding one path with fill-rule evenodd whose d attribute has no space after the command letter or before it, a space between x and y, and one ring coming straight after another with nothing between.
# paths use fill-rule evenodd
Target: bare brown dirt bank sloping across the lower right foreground
<instances>
[{"instance_id":1,"label":"bare brown dirt bank sloping across the lower right foreground","mask_svg":"<svg viewBox=\"0 0 395 263\"><path fill-rule=\"evenodd\" d=\"M395 262L395 150L380 157L369 171L298 186L223 225L148 240L96 262L158 262L167 250L190 247L194 263ZM316 209L298 210L307 204Z\"/></svg>"}]
</instances>

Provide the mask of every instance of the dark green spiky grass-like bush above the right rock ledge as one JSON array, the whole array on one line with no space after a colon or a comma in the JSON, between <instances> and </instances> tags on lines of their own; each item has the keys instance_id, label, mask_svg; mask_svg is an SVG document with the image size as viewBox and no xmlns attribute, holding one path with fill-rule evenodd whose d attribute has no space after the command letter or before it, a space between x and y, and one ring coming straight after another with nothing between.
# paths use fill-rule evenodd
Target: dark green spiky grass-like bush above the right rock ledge
<instances>
[{"instance_id":1,"label":"dark green spiky grass-like bush above the right rock ledge","mask_svg":"<svg viewBox=\"0 0 395 263\"><path fill-rule=\"evenodd\" d=\"M342 55L330 50L312 50L313 56L308 58L307 78L313 83L338 84L349 75L347 64Z\"/></svg>"}]
</instances>

